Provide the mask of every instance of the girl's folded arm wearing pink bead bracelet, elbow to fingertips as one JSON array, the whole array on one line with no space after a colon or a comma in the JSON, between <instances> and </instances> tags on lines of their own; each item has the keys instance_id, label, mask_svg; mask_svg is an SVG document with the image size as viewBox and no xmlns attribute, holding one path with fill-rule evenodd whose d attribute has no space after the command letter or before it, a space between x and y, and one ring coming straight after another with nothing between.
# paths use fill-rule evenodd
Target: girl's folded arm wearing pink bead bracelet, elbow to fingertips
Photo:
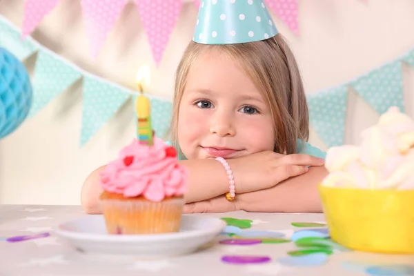
<instances>
[{"instance_id":1,"label":"girl's folded arm wearing pink bead bracelet, elbow to fingertips","mask_svg":"<svg viewBox=\"0 0 414 276\"><path fill-rule=\"evenodd\" d=\"M188 192L186 202L203 201L228 192L228 175L215 159L182 160L188 168ZM306 166L322 166L324 160L310 155L279 155L275 152L259 152L246 157L228 160L235 177L236 193L248 193L275 186L289 177L302 175ZM81 204L87 213L101 213L99 210L99 173L104 167L93 171L83 184Z\"/></svg>"}]
</instances>

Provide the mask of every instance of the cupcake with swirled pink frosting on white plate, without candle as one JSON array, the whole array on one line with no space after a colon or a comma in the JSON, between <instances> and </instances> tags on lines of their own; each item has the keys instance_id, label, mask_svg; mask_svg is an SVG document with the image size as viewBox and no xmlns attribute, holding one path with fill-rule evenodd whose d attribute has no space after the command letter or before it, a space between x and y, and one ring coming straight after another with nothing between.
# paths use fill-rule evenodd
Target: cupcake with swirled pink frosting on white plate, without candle
<instances>
[{"instance_id":1,"label":"cupcake with swirled pink frosting on white plate, without candle","mask_svg":"<svg viewBox=\"0 0 414 276\"><path fill-rule=\"evenodd\" d=\"M132 143L101 173L101 210L109 234L157 234L179 230L188 172L175 148L154 137Z\"/></svg>"}]
</instances>

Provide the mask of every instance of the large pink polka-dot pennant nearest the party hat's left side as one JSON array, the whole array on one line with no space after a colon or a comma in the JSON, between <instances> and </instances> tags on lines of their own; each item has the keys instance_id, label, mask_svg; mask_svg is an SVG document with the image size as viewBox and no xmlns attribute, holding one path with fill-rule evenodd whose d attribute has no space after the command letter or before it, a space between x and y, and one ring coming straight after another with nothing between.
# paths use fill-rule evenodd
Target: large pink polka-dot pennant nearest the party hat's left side
<instances>
[{"instance_id":1,"label":"large pink polka-dot pennant nearest the party hat's left side","mask_svg":"<svg viewBox=\"0 0 414 276\"><path fill-rule=\"evenodd\" d=\"M152 56L159 66L179 17L182 0L135 0L135 3L148 36Z\"/></svg>"}]
</instances>

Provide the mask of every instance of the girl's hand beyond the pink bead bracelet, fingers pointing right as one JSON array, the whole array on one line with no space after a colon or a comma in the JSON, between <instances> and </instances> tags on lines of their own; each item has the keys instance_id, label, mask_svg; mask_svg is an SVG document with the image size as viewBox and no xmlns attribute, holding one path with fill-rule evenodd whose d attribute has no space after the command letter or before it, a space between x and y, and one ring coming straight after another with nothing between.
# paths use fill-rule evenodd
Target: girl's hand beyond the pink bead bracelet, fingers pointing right
<instances>
[{"instance_id":1,"label":"girl's hand beyond the pink bead bracelet, fingers pointing right","mask_svg":"<svg viewBox=\"0 0 414 276\"><path fill-rule=\"evenodd\" d=\"M270 150L227 161L235 177L236 194L267 189L303 175L308 166L324 165L324 159L311 155L281 155Z\"/></svg>"}]
</instances>

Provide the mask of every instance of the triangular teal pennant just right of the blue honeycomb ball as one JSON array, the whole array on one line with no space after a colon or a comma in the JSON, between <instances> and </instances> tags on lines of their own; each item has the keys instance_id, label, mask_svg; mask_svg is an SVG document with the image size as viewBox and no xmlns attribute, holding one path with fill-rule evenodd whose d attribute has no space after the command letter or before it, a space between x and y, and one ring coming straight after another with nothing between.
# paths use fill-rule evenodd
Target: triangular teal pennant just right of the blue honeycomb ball
<instances>
[{"instance_id":1,"label":"triangular teal pennant just right of the blue honeycomb ball","mask_svg":"<svg viewBox=\"0 0 414 276\"><path fill-rule=\"evenodd\" d=\"M36 115L50 100L55 99L80 77L81 74L75 68L56 55L39 50L34 66L33 103L29 117Z\"/></svg>"}]
</instances>

